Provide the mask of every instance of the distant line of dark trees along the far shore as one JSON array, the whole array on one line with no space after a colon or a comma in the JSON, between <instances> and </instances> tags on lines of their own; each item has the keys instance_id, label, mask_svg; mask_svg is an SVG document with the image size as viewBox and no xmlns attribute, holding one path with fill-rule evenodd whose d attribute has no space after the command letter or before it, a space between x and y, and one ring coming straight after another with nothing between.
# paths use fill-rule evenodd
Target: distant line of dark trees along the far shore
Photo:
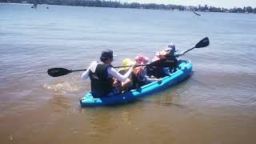
<instances>
[{"instance_id":1,"label":"distant line of dark trees along the far shore","mask_svg":"<svg viewBox=\"0 0 256 144\"><path fill-rule=\"evenodd\" d=\"M95 7L114 7L114 8L134 8L134 9L153 9L153 10L194 10L206 12L230 12L230 13L254 13L256 14L256 7L244 6L243 8L234 7L233 9L226 9L214 6L181 6L181 5L164 5L147 3L141 4L138 2L118 2L105 0L0 0L0 2L28 2L31 4L48 4L48 5L65 5L65 6L95 6Z\"/></svg>"}]
</instances>

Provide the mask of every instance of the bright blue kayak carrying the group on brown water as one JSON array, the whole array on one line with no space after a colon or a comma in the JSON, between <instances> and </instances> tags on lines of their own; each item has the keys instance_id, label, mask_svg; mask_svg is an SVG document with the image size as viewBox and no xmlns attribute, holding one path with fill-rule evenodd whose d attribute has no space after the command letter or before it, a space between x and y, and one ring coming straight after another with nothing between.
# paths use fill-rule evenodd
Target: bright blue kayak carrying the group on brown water
<instances>
[{"instance_id":1,"label":"bright blue kayak carrying the group on brown water","mask_svg":"<svg viewBox=\"0 0 256 144\"><path fill-rule=\"evenodd\" d=\"M142 98L149 94L165 90L182 82L185 78L189 77L192 71L192 62L182 60L178 66L178 70L162 78L162 82L151 82L145 86L142 86L138 90L130 90L123 94L107 96L103 98L94 98L91 93L86 94L83 98L80 99L81 106L108 106L115 105L124 102L134 101L137 98Z\"/></svg>"}]
</instances>

